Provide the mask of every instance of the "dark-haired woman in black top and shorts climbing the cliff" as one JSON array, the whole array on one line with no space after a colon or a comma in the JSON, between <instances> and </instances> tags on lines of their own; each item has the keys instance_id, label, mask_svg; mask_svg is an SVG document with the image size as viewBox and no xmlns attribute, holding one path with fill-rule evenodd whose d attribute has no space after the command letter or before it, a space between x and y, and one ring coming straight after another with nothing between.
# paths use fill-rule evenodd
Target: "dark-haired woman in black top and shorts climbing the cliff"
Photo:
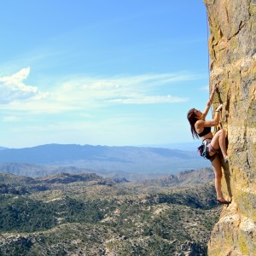
<instances>
[{"instance_id":1,"label":"dark-haired woman in black top and shorts climbing the cliff","mask_svg":"<svg viewBox=\"0 0 256 256\"><path fill-rule=\"evenodd\" d=\"M219 112L222 109L222 104L218 106L215 111L215 116L212 120L205 120L207 113L212 105L214 92L217 90L217 85L212 88L211 96L207 102L207 107L201 113L200 110L192 108L189 110L188 119L191 126L191 133L193 138L201 138L202 148L205 152L205 157L212 162L212 168L215 174L215 189L217 193L219 204L230 204L230 201L226 201L221 192L221 165L218 157L218 149L224 156L224 162L228 163L229 158L225 143L225 131L219 130L214 136L212 135L211 127L219 124Z\"/></svg>"}]
</instances>

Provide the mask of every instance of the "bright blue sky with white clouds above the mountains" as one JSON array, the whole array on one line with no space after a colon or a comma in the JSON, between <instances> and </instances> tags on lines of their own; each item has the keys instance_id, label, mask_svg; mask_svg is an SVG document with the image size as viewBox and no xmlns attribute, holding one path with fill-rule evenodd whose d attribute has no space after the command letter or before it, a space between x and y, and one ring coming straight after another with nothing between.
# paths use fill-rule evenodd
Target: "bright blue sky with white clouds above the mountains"
<instances>
[{"instance_id":1,"label":"bright blue sky with white clouds above the mountains","mask_svg":"<svg viewBox=\"0 0 256 256\"><path fill-rule=\"evenodd\" d=\"M203 1L3 1L0 145L192 142L208 98Z\"/></svg>"}]
</instances>

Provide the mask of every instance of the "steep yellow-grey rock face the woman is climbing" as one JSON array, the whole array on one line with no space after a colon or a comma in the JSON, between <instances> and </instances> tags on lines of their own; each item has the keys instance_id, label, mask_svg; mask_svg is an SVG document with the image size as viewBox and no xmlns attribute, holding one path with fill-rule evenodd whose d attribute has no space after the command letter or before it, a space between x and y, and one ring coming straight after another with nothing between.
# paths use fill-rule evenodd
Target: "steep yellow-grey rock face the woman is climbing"
<instances>
[{"instance_id":1,"label":"steep yellow-grey rock face the woman is climbing","mask_svg":"<svg viewBox=\"0 0 256 256\"><path fill-rule=\"evenodd\" d=\"M224 166L224 207L208 243L209 255L256 255L256 1L204 0L210 29L214 109L224 104L230 163Z\"/></svg>"}]
</instances>

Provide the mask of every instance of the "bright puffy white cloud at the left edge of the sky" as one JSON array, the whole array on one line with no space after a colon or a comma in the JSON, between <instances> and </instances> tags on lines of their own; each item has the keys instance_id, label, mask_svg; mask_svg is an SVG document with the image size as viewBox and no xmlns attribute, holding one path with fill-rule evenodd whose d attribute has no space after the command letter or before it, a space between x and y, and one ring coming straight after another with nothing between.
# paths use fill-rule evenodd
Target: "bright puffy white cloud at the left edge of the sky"
<instances>
[{"instance_id":1,"label":"bright puffy white cloud at the left edge of the sky","mask_svg":"<svg viewBox=\"0 0 256 256\"><path fill-rule=\"evenodd\" d=\"M0 103L24 101L39 95L37 87L24 84L29 73L30 67L27 67L12 76L0 78Z\"/></svg>"}]
</instances>

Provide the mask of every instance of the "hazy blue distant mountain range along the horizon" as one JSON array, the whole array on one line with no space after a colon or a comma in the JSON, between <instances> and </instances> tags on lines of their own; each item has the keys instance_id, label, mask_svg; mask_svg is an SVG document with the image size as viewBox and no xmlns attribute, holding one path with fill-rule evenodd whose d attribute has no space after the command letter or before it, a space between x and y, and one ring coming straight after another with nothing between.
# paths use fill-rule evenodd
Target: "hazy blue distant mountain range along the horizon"
<instances>
[{"instance_id":1,"label":"hazy blue distant mountain range along the horizon","mask_svg":"<svg viewBox=\"0 0 256 256\"><path fill-rule=\"evenodd\" d=\"M27 170L27 172L21 174L31 177L52 173L52 170L45 168L45 166L73 166L73 168L82 168L83 172L87 170L103 176L105 176L104 173L109 172L116 174L128 172L137 175L137 177L145 173L150 173L153 177L155 173L175 174L184 170L209 166L207 160L203 160L196 152L190 151L170 148L82 146L76 144L47 144L32 148L3 149L0 150L0 163L22 164L21 169ZM29 164L29 166L24 168L24 164ZM44 166L44 168L38 168L38 165ZM4 168L18 168L20 170L20 167L14 166L14 164L9 164L8 167L2 165L1 167L3 172L5 172ZM2 170L0 169L0 171ZM7 172L9 171L7 170ZM33 174L31 175L29 172ZM19 172L13 173L20 174ZM125 175L121 176L125 177Z\"/></svg>"}]
</instances>

